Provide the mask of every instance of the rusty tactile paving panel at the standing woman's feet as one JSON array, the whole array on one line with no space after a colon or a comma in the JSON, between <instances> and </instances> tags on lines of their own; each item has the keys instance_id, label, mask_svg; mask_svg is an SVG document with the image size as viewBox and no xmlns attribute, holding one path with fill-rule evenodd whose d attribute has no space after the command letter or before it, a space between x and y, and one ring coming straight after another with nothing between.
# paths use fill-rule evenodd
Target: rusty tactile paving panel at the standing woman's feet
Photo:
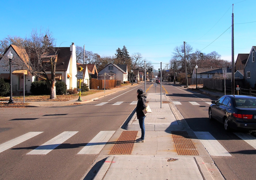
<instances>
[{"instance_id":1,"label":"rusty tactile paving panel at the standing woman's feet","mask_svg":"<svg viewBox=\"0 0 256 180\"><path fill-rule=\"evenodd\" d=\"M109 154L131 154L138 131L123 131Z\"/></svg>"}]
</instances>

